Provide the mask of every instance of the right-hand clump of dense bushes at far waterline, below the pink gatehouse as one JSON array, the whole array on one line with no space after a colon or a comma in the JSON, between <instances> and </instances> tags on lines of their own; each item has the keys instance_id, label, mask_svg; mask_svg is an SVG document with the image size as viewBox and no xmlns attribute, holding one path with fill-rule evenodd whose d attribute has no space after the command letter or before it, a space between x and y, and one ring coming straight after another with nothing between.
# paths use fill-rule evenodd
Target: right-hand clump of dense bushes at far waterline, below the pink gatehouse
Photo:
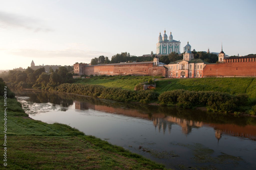
<instances>
[{"instance_id":1,"label":"right-hand clump of dense bushes at far waterline, below the pink gatehouse","mask_svg":"<svg viewBox=\"0 0 256 170\"><path fill-rule=\"evenodd\" d=\"M231 95L214 91L188 91L183 89L166 91L159 95L160 105L176 104L179 108L191 109L207 106L209 111L234 112L248 101L246 94Z\"/></svg>"}]
</instances>

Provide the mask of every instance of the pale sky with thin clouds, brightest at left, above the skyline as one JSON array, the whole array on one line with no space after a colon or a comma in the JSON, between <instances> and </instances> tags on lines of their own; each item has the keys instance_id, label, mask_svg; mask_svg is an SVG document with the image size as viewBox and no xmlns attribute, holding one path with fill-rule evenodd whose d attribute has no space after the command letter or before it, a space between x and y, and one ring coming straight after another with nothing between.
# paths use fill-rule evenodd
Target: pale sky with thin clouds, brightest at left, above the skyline
<instances>
[{"instance_id":1,"label":"pale sky with thin clouds, brightest at left, above the skyline","mask_svg":"<svg viewBox=\"0 0 256 170\"><path fill-rule=\"evenodd\" d=\"M159 32L196 51L256 54L256 1L0 0L0 70L155 53Z\"/></svg>"}]
</instances>

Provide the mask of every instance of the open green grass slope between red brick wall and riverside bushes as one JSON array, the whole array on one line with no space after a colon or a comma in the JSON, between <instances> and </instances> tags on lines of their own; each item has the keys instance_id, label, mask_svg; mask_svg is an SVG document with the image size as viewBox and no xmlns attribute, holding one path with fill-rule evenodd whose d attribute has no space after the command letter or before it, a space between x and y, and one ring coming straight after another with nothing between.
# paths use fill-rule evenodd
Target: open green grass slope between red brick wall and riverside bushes
<instances>
[{"instance_id":1,"label":"open green grass slope between red brick wall and riverside bushes","mask_svg":"<svg viewBox=\"0 0 256 170\"><path fill-rule=\"evenodd\" d=\"M124 79L122 79L124 77ZM121 87L133 90L140 83L150 79L150 76L115 76L104 79L83 79L77 83L99 84L106 87ZM255 78L201 78L201 79L167 79L156 81L155 91L162 93L175 89L193 91L222 91L231 94L247 93L250 98L256 98Z\"/></svg>"}]
</instances>

